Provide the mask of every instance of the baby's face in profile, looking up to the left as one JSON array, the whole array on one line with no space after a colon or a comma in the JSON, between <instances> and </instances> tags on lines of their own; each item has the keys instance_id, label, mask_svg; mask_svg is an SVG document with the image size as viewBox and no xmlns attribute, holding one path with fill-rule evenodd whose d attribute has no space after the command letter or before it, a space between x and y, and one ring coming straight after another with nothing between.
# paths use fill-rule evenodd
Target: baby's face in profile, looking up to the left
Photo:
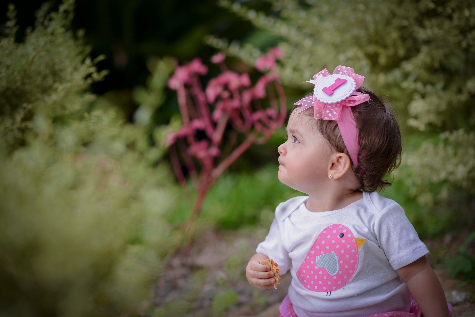
<instances>
[{"instance_id":1,"label":"baby's face in profile, looking up to the left","mask_svg":"<svg viewBox=\"0 0 475 317\"><path fill-rule=\"evenodd\" d=\"M279 181L304 193L321 188L328 180L332 151L312 126L314 117L302 116L296 109L287 125L287 141L278 147Z\"/></svg>"}]
</instances>

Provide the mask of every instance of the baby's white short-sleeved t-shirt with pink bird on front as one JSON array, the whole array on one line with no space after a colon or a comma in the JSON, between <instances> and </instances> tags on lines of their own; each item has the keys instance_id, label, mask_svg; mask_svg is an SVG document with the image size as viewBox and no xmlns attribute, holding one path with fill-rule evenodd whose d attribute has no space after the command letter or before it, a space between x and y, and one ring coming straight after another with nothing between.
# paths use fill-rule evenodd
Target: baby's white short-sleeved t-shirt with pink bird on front
<instances>
[{"instance_id":1,"label":"baby's white short-sleeved t-shirt with pink bird on front","mask_svg":"<svg viewBox=\"0 0 475 317\"><path fill-rule=\"evenodd\" d=\"M429 250L402 207L377 192L345 208L312 212L298 196L280 203L257 253L290 269L288 296L298 317L368 317L409 311L396 269Z\"/></svg>"}]
</instances>

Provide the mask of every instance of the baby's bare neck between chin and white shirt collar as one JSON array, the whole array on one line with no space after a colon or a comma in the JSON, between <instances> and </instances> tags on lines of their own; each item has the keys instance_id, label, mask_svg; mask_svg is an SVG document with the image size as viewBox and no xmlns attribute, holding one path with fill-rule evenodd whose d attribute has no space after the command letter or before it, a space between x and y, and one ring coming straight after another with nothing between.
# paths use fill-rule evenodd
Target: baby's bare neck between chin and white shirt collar
<instances>
[{"instance_id":1,"label":"baby's bare neck between chin and white shirt collar","mask_svg":"<svg viewBox=\"0 0 475 317\"><path fill-rule=\"evenodd\" d=\"M310 195L305 207L312 212L332 211L345 208L352 202L363 198L363 192L359 190L350 190L341 194L333 195Z\"/></svg>"}]
</instances>

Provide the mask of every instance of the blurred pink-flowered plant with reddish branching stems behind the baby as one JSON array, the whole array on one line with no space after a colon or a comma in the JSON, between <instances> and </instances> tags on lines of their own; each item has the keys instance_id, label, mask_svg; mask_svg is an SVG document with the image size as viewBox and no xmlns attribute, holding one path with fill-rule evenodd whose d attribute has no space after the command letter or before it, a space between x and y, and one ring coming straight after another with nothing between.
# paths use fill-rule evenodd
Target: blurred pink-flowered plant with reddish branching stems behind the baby
<instances>
[{"instance_id":1,"label":"blurred pink-flowered plant with reddish branching stems behind the baby","mask_svg":"<svg viewBox=\"0 0 475 317\"><path fill-rule=\"evenodd\" d=\"M282 51L274 48L257 60L256 67L261 71L272 70L276 66L275 58L282 56ZM183 66L175 64L175 73L168 80L168 87L177 91L183 118L180 130L167 135L171 163L181 185L186 188L184 165L198 191L185 225L189 234L207 192L219 175L251 144L266 143L284 124L287 112L284 89L276 72L265 73L251 86L249 75L228 70L224 59L224 53L211 58L221 73L209 80L205 90L199 76L206 75L208 67L199 58ZM268 101L266 107L262 103L264 98ZM228 137L223 144L225 133ZM237 145L239 133L246 135L246 139Z\"/></svg>"}]
</instances>

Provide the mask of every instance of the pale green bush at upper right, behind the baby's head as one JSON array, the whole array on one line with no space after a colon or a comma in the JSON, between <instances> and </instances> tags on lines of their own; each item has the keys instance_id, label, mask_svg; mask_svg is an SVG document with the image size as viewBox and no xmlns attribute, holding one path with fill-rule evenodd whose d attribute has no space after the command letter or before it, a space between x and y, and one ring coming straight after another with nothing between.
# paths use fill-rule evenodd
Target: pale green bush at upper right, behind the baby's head
<instances>
[{"instance_id":1,"label":"pale green bush at upper right, behind the baby's head","mask_svg":"<svg viewBox=\"0 0 475 317\"><path fill-rule=\"evenodd\" d=\"M282 39L285 85L309 91L303 82L315 72L351 66L366 76L365 86L390 99L403 134L424 131L403 155L411 166L401 175L407 195L429 207L456 192L473 196L473 1L277 0L272 15L239 2L219 4ZM242 46L206 40L251 65L262 54L254 39Z\"/></svg>"}]
</instances>

